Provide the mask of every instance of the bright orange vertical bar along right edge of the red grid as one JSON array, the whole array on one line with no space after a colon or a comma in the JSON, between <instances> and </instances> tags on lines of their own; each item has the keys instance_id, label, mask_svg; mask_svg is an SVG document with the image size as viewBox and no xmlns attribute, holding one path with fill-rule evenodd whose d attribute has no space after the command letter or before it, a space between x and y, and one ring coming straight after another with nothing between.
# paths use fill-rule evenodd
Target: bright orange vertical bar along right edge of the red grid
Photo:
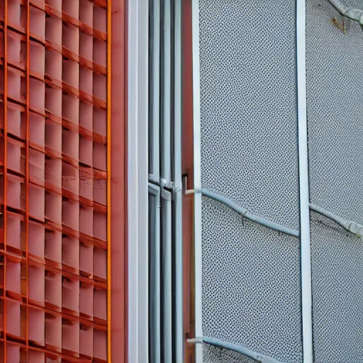
<instances>
[{"instance_id":1,"label":"bright orange vertical bar along right edge of the red grid","mask_svg":"<svg viewBox=\"0 0 363 363\"><path fill-rule=\"evenodd\" d=\"M111 363L111 2L107 0L107 362Z\"/></svg>"}]
</instances>

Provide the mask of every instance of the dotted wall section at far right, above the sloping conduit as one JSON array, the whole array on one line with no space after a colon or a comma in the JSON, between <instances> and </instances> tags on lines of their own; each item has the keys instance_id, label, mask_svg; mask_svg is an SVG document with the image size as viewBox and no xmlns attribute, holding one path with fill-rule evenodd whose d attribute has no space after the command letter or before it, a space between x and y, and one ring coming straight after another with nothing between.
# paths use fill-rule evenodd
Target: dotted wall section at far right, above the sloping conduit
<instances>
[{"instance_id":1,"label":"dotted wall section at far right, above the sloping conduit","mask_svg":"<svg viewBox=\"0 0 363 363\"><path fill-rule=\"evenodd\" d=\"M362 0L344 4L363 9ZM328 0L308 0L306 11L311 202L363 223L363 30ZM333 18L345 22L346 34Z\"/></svg>"}]
</instances>

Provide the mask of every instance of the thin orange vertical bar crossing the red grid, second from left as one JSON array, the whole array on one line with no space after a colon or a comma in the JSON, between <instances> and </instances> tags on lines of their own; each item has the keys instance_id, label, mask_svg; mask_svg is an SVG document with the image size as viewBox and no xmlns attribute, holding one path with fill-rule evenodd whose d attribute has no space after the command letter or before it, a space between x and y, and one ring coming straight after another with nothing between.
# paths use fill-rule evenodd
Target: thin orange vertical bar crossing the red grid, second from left
<instances>
[{"instance_id":1,"label":"thin orange vertical bar crossing the red grid, second from left","mask_svg":"<svg viewBox=\"0 0 363 363\"><path fill-rule=\"evenodd\" d=\"M29 347L29 72L30 72L30 3L26 3L26 360Z\"/></svg>"}]
</instances>

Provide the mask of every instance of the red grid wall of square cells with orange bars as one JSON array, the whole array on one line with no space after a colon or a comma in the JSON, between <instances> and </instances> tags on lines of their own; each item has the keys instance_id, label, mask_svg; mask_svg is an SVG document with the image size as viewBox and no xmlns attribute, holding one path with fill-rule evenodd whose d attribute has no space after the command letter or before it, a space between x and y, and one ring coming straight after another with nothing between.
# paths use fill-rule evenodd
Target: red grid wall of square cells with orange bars
<instances>
[{"instance_id":1,"label":"red grid wall of square cells with orange bars","mask_svg":"<svg viewBox=\"0 0 363 363\"><path fill-rule=\"evenodd\" d=\"M0 0L0 38L0 362L106 362L106 0Z\"/></svg>"}]
</instances>

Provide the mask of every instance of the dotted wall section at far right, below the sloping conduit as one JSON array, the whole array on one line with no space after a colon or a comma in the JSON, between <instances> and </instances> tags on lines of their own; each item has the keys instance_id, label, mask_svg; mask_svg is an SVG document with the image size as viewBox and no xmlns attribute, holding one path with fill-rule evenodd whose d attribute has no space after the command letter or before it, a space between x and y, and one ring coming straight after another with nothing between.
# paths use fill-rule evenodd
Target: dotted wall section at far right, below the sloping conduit
<instances>
[{"instance_id":1,"label":"dotted wall section at far right, below the sloping conduit","mask_svg":"<svg viewBox=\"0 0 363 363\"><path fill-rule=\"evenodd\" d=\"M315 363L363 362L363 239L311 212Z\"/></svg>"}]
</instances>

